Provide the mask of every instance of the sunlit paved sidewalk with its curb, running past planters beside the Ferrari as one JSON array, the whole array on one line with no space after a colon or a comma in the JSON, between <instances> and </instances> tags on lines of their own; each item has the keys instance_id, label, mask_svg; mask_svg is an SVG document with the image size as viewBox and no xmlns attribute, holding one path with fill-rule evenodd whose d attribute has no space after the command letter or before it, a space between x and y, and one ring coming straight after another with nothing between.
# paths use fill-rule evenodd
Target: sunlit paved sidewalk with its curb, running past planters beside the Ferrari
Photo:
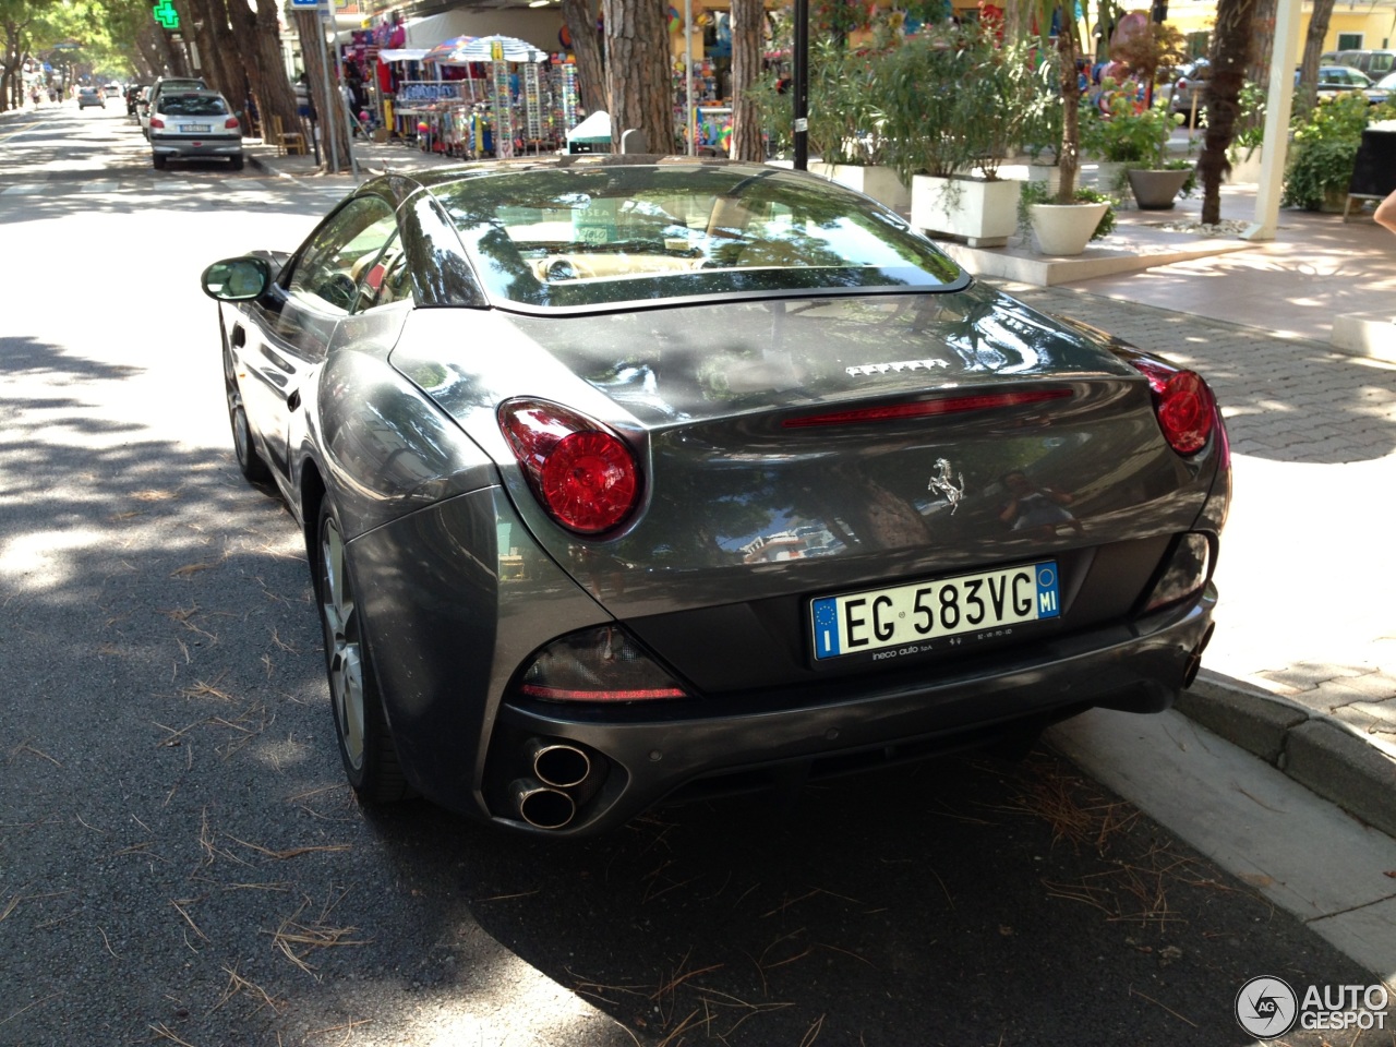
<instances>
[{"instance_id":1,"label":"sunlit paved sidewalk with its curb, running past planters beside the Ferrari","mask_svg":"<svg viewBox=\"0 0 1396 1047\"><path fill-rule=\"evenodd\" d=\"M248 152L269 172L314 172L309 158ZM362 142L356 156L364 174L451 162L399 144ZM1187 239L1163 226L1199 208L1121 211L1117 247ZM1254 208L1254 187L1223 191L1223 219L1252 219ZM1004 286L1212 383L1235 498L1216 574L1217 632L1181 708L1396 836L1396 364L1329 343L1340 315L1396 317L1396 236L1286 211L1272 243Z\"/></svg>"}]
</instances>

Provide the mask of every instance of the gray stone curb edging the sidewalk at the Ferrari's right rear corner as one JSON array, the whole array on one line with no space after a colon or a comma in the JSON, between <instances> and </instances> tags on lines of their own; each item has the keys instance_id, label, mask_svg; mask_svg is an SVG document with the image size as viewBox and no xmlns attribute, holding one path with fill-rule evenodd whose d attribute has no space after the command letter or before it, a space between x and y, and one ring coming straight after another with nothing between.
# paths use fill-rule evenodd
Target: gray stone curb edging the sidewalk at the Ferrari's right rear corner
<instances>
[{"instance_id":1,"label":"gray stone curb edging the sidewalk at the Ferrari's right rear corner","mask_svg":"<svg viewBox=\"0 0 1396 1047\"><path fill-rule=\"evenodd\" d=\"M1212 671L1199 674L1175 708L1367 825L1396 836L1396 761L1351 727Z\"/></svg>"}]
</instances>

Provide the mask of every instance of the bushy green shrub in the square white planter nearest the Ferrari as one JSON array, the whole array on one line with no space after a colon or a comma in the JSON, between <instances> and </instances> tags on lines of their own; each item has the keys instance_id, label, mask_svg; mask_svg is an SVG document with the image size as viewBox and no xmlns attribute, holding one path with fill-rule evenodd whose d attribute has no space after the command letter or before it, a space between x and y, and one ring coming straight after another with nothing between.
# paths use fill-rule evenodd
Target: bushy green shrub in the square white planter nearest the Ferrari
<instances>
[{"instance_id":1,"label":"bushy green shrub in the square white planter nearest the Ferrari","mask_svg":"<svg viewBox=\"0 0 1396 1047\"><path fill-rule=\"evenodd\" d=\"M1034 106L1046 105L1022 45L991 25L926 27L888 52L878 78L892 166L912 187L912 225L1002 246L1016 226L1019 180L998 166Z\"/></svg>"}]
</instances>

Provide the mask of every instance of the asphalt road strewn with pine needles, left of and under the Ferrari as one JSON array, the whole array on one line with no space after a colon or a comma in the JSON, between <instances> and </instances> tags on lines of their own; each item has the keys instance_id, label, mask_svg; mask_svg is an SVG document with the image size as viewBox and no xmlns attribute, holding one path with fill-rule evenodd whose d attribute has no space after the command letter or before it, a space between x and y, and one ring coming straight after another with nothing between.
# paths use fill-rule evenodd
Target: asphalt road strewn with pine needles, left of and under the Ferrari
<instances>
[{"instance_id":1,"label":"asphalt road strewn with pine needles, left of and under the Ferrari","mask_svg":"<svg viewBox=\"0 0 1396 1047\"><path fill-rule=\"evenodd\" d=\"M31 123L0 121L0 1044L1240 1046L1248 979L1371 980L1047 751L571 846L360 810L197 288L348 183L154 172L116 107Z\"/></svg>"}]
</instances>

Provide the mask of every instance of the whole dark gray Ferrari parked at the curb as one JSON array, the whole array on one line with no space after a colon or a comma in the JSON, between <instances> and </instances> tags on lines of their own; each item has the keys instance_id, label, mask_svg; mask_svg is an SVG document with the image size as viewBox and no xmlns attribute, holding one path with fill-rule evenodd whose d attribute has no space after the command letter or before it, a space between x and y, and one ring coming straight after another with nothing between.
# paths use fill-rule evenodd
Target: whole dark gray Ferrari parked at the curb
<instances>
[{"instance_id":1,"label":"whole dark gray Ferrari parked at the curb","mask_svg":"<svg viewBox=\"0 0 1396 1047\"><path fill-rule=\"evenodd\" d=\"M364 800L575 836L1161 711L1210 637L1203 380L824 179L388 174L202 282Z\"/></svg>"}]
</instances>

